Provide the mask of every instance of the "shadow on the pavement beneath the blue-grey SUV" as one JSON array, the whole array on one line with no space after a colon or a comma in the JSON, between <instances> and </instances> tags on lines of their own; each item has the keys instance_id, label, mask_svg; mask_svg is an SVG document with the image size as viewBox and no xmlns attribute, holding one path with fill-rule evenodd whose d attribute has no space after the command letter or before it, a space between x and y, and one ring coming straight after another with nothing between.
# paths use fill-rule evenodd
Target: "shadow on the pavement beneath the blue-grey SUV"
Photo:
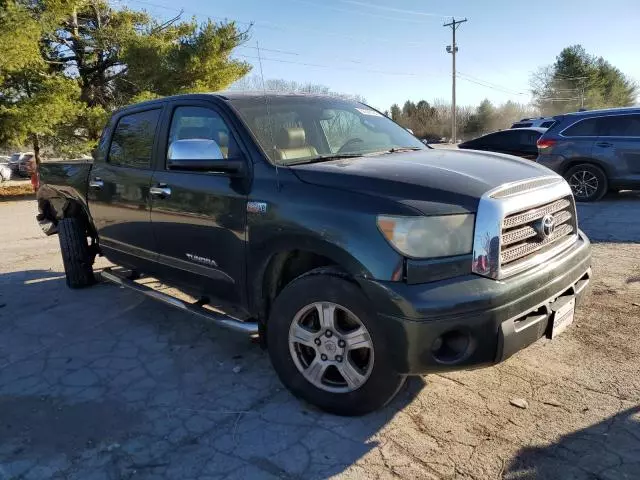
<instances>
[{"instance_id":1,"label":"shadow on the pavement beneath the blue-grey SUV","mask_svg":"<svg viewBox=\"0 0 640 480\"><path fill-rule=\"evenodd\" d=\"M611 193L595 203L578 203L578 224L594 243L640 242L640 192Z\"/></svg>"}]
</instances>

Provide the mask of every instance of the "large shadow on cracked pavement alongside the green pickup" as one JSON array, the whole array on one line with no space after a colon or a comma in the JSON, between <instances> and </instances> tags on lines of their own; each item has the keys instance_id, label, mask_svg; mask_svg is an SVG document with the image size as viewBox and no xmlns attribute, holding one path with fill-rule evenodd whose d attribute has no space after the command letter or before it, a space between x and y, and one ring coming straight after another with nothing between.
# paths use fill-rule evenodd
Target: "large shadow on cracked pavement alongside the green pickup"
<instances>
[{"instance_id":1,"label":"large shadow on cracked pavement alongside the green pickup","mask_svg":"<svg viewBox=\"0 0 640 480\"><path fill-rule=\"evenodd\" d=\"M60 271L0 274L0 478L326 478L424 385L336 417L242 335L107 283L70 290Z\"/></svg>"}]
</instances>

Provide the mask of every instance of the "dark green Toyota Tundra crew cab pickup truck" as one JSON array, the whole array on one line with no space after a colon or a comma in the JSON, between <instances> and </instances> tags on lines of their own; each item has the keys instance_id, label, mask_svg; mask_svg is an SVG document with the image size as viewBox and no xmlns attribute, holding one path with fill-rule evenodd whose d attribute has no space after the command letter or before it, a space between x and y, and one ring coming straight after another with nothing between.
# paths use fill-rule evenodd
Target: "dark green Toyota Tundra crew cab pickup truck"
<instances>
[{"instance_id":1,"label":"dark green Toyota Tundra crew cab pickup truck","mask_svg":"<svg viewBox=\"0 0 640 480\"><path fill-rule=\"evenodd\" d=\"M104 255L124 267L104 279L258 335L291 392L342 415L385 405L407 375L491 365L555 337L591 277L562 177L429 149L334 97L128 106L93 164L40 174L38 221L59 235L70 287L91 285Z\"/></svg>"}]
</instances>

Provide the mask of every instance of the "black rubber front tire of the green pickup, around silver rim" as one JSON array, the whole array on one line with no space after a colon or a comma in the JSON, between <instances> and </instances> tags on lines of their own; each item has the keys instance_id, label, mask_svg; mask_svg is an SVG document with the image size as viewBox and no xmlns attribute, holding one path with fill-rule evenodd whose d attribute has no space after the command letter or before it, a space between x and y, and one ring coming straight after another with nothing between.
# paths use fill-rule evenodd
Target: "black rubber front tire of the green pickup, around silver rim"
<instances>
[{"instance_id":1,"label":"black rubber front tire of the green pickup, around silver rim","mask_svg":"<svg viewBox=\"0 0 640 480\"><path fill-rule=\"evenodd\" d=\"M322 273L302 275L278 295L267 324L267 348L280 380L296 397L333 414L356 416L377 410L396 396L406 377L391 367L388 346L370 303L355 284L345 278ZM334 305L338 312L335 316L322 316L334 319L334 333L330 338L326 333L323 334L326 330L319 325L321 315L318 304L327 307L326 310L321 308L323 312L329 312L330 305ZM293 325L300 327L299 322L303 319L311 319L313 324L313 328L305 327L304 334L314 337L312 340L311 337L305 337L308 345L290 341L290 333L294 329L299 331ZM357 322L364 330L355 327ZM326 325L328 323L325 322ZM345 329L346 326L349 328ZM353 339L356 330L358 340ZM349 337L349 334L352 336ZM318 345L315 342L322 343ZM349 349L345 342L352 345L367 344L370 348ZM304 367L303 363L306 362L308 368L304 371L310 371L309 368L316 361L320 362L319 358L323 356L320 352L329 356L333 352L336 355L333 359L324 355L325 370L319 380L321 385L317 386L303 375L301 365ZM351 373L354 370L358 375ZM351 384L346 381L347 377L342 375L342 371L349 372ZM357 383L359 385L354 387Z\"/></svg>"}]
</instances>

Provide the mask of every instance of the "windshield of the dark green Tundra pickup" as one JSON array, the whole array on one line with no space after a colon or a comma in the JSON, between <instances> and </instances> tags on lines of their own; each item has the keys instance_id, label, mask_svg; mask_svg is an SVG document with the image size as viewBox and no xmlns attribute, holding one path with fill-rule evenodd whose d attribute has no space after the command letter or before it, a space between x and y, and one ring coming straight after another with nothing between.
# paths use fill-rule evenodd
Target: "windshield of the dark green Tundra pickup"
<instances>
[{"instance_id":1,"label":"windshield of the dark green Tundra pickup","mask_svg":"<svg viewBox=\"0 0 640 480\"><path fill-rule=\"evenodd\" d=\"M269 159L280 165L427 149L404 128L358 102L267 95L238 96L231 104Z\"/></svg>"}]
</instances>

